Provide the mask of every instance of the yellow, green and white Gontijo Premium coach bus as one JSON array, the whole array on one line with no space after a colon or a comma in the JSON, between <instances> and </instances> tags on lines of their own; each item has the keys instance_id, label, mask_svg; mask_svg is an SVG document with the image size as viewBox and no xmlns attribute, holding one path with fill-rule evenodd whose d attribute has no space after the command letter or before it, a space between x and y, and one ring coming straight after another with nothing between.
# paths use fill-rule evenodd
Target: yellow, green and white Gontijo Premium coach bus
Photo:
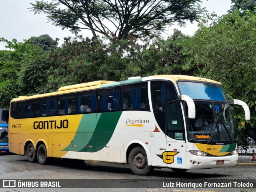
<instances>
[{"instance_id":1,"label":"yellow, green and white Gontijo Premium coach bus","mask_svg":"<svg viewBox=\"0 0 256 192\"><path fill-rule=\"evenodd\" d=\"M12 99L9 148L40 164L50 157L127 163L138 175L234 166L235 104L250 120L246 103L228 101L219 82L185 75L70 85Z\"/></svg>"}]
</instances>

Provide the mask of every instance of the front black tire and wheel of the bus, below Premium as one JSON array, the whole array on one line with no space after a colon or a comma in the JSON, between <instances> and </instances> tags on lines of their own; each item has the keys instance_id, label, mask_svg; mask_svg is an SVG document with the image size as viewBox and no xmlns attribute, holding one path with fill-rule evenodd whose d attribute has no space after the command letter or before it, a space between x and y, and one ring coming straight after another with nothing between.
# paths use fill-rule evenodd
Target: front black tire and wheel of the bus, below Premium
<instances>
[{"instance_id":1,"label":"front black tire and wheel of the bus, below Premium","mask_svg":"<svg viewBox=\"0 0 256 192\"><path fill-rule=\"evenodd\" d=\"M148 166L146 151L141 146L136 146L131 150L128 163L130 169L136 175L146 175L154 170L154 167Z\"/></svg>"}]
</instances>

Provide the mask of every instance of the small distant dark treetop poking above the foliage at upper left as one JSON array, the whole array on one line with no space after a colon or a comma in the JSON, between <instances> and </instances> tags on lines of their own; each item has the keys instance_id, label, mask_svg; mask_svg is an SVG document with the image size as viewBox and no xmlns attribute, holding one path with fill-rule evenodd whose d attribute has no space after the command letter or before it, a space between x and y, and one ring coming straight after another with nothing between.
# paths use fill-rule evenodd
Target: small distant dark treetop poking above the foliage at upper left
<instances>
[{"instance_id":1,"label":"small distant dark treetop poking above the foliage at upper left","mask_svg":"<svg viewBox=\"0 0 256 192\"><path fill-rule=\"evenodd\" d=\"M53 51L58 46L58 42L54 41L49 35L31 37L29 40L32 45L39 46L45 51Z\"/></svg>"}]
</instances>

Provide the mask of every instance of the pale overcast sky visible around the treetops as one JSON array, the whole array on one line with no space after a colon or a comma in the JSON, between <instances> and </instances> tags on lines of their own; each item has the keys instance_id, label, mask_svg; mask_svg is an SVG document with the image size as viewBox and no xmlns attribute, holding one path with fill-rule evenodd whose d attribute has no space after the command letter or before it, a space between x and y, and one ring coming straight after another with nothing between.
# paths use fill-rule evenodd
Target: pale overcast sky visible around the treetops
<instances>
[{"instance_id":1,"label":"pale overcast sky visible around the treetops","mask_svg":"<svg viewBox=\"0 0 256 192\"><path fill-rule=\"evenodd\" d=\"M50 0L48 1L50 2ZM202 1L202 7L206 7L210 13L215 12L219 16L226 14L231 6L231 0ZM29 3L35 3L35 0L0 0L0 38L3 37L9 41L15 38L18 42L23 42L24 39L29 39L32 36L48 34L54 40L59 38L60 46L65 37L74 37L74 34L68 29L62 30L60 27L52 25L52 22L48 22L46 14L34 15L34 12L28 9L32 7ZM177 28L183 34L192 36L198 29L197 24L196 22L190 24L189 21L186 23L186 27L182 28L172 26L167 35L171 35L173 28ZM83 35L84 38L92 37L89 30L84 30L79 35ZM0 50L5 49L5 45L5 43L0 43Z\"/></svg>"}]
</instances>

